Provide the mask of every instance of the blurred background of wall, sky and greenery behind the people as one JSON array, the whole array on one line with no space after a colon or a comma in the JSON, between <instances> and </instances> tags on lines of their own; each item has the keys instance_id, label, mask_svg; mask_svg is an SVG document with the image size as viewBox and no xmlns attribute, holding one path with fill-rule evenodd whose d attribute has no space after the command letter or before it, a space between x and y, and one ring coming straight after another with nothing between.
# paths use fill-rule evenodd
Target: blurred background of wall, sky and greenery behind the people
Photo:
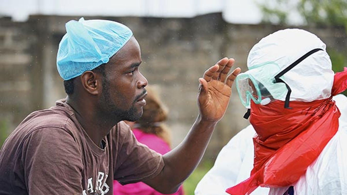
<instances>
[{"instance_id":1,"label":"blurred background of wall, sky and greenery behind the people","mask_svg":"<svg viewBox=\"0 0 347 195\"><path fill-rule=\"evenodd\" d=\"M197 116L204 71L225 56L246 71L249 50L276 30L318 35L333 70L347 66L347 0L0 0L0 146L26 115L66 97L56 54L65 23L80 17L115 20L133 30L141 71L169 108L172 147ZM233 88L203 161L184 184L187 194L223 145L248 125L245 112Z\"/></svg>"}]
</instances>

